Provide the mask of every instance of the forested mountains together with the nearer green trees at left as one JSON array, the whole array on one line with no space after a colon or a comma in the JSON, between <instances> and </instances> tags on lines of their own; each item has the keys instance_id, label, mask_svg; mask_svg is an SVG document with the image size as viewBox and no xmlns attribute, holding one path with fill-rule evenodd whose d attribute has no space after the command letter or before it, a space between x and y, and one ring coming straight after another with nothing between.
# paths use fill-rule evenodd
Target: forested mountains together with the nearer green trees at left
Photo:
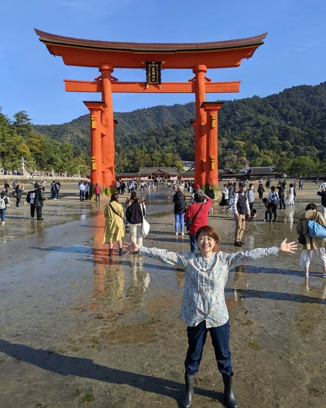
<instances>
[{"instance_id":1,"label":"forested mountains together with the nearer green trees at left","mask_svg":"<svg viewBox=\"0 0 326 408\"><path fill-rule=\"evenodd\" d=\"M189 121L195 117L194 102L116 112L114 117L119 122L115 127L117 172L193 159L194 128ZM40 168L63 170L72 158L74 169L89 163L88 114L61 125L33 127L25 111L14 118L11 122L0 113L0 162L7 167L18 163L22 154ZM326 171L326 82L293 86L265 98L225 102L218 115L218 149L219 168L275 165L293 174L302 169ZM67 152L64 159L61 151Z\"/></svg>"}]
</instances>

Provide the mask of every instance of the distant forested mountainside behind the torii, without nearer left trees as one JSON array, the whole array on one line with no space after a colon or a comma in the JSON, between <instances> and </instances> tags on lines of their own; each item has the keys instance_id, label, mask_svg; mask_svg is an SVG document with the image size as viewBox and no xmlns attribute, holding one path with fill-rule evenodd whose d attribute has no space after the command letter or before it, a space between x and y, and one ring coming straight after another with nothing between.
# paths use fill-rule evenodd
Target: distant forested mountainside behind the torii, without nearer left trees
<instances>
[{"instance_id":1,"label":"distant forested mountainside behind the torii, without nearer left trees","mask_svg":"<svg viewBox=\"0 0 326 408\"><path fill-rule=\"evenodd\" d=\"M171 165L194 156L195 104L154 106L114 114L116 163L124 170ZM269 95L227 101L218 117L219 167L275 165L289 169L296 157L318 166L326 153L326 82ZM62 125L34 125L34 131L89 153L89 116ZM311 165L313 165L311 164ZM314 169L310 169L314 170Z\"/></svg>"}]
</instances>

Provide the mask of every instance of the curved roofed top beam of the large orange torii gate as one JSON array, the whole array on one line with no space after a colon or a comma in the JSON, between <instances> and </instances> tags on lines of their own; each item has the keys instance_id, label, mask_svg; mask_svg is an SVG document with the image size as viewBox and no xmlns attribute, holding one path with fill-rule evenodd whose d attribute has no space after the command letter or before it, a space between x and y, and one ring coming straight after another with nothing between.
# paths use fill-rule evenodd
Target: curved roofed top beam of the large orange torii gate
<instances>
[{"instance_id":1,"label":"curved roofed top beam of the large orange torii gate","mask_svg":"<svg viewBox=\"0 0 326 408\"><path fill-rule=\"evenodd\" d=\"M196 43L137 43L83 40L63 37L35 29L52 55L61 56L67 65L117 68L143 68L143 61L165 60L164 68L227 68L240 65L262 44L267 33L239 40Z\"/></svg>"}]
</instances>

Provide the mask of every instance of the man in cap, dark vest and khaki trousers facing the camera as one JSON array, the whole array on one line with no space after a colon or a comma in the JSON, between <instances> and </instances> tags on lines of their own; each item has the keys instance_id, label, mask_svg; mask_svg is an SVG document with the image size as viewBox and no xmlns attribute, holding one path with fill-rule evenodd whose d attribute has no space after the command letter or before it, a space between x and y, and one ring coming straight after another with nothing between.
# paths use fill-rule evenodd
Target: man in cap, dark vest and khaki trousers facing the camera
<instances>
[{"instance_id":1,"label":"man in cap, dark vest and khaki trousers facing the camera","mask_svg":"<svg viewBox=\"0 0 326 408\"><path fill-rule=\"evenodd\" d=\"M246 183L239 183L239 191L233 195L232 210L236 220L236 232L234 237L234 246L242 246L245 243L241 241L242 235L245 231L246 214L250 218L250 207L248 196L245 194Z\"/></svg>"}]
</instances>

